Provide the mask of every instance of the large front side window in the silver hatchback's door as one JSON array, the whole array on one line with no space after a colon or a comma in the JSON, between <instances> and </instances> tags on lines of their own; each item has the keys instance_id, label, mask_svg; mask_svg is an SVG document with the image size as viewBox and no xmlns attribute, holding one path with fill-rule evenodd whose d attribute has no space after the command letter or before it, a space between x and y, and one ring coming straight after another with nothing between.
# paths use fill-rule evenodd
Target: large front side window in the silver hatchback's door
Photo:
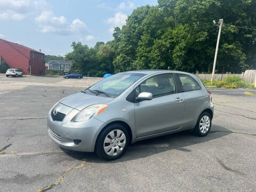
<instances>
[{"instance_id":1,"label":"large front side window in the silver hatchback's door","mask_svg":"<svg viewBox=\"0 0 256 192\"><path fill-rule=\"evenodd\" d=\"M172 74L161 74L148 78L135 89L135 97L141 92L152 93L153 97L175 93Z\"/></svg>"}]
</instances>

